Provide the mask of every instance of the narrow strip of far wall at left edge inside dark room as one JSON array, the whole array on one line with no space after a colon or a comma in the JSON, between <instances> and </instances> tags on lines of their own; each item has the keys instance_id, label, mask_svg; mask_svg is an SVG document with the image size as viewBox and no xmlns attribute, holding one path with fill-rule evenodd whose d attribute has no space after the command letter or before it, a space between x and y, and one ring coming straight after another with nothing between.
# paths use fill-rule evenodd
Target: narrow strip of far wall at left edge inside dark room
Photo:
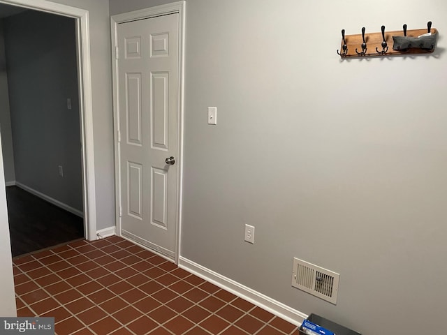
<instances>
[{"instance_id":1,"label":"narrow strip of far wall at left edge inside dark room","mask_svg":"<svg viewBox=\"0 0 447 335\"><path fill-rule=\"evenodd\" d=\"M3 20L0 19L0 127L1 146L3 147L3 166L5 181L15 181L13 135L9 112L8 75L6 73L6 55L3 37Z\"/></svg>"}]
</instances>

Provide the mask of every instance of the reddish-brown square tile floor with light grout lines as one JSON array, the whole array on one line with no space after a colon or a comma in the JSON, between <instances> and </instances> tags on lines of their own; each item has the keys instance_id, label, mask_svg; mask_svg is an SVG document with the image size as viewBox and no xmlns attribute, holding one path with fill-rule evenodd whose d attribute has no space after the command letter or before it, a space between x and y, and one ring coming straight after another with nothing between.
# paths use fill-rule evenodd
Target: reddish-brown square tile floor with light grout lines
<instances>
[{"instance_id":1,"label":"reddish-brown square tile floor with light grout lines","mask_svg":"<svg viewBox=\"0 0 447 335\"><path fill-rule=\"evenodd\" d=\"M121 237L13 259L18 316L56 334L297 335L297 327Z\"/></svg>"}]
</instances>

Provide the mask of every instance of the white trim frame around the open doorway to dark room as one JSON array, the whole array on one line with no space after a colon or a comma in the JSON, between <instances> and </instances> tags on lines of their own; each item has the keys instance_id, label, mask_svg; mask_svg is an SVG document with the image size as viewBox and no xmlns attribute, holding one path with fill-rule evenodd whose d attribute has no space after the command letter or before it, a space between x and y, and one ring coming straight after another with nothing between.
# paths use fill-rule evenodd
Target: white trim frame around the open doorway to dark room
<instances>
[{"instance_id":1,"label":"white trim frame around the open doorway to dark room","mask_svg":"<svg viewBox=\"0 0 447 335\"><path fill-rule=\"evenodd\" d=\"M47 0L0 0L6 5L72 17L76 22L80 128L82 144L82 191L84 195L85 238L96 239L96 192L93 146L93 107L91 104L89 11ZM1 158L0 158L1 159Z\"/></svg>"}]
</instances>

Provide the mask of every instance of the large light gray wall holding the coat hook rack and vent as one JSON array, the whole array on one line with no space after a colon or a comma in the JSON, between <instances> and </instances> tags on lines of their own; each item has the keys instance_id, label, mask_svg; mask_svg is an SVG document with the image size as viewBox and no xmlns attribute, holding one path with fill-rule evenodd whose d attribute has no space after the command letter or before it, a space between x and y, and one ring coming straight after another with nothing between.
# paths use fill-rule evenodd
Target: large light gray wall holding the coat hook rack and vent
<instances>
[{"instance_id":1,"label":"large light gray wall holding the coat hook rack and vent","mask_svg":"<svg viewBox=\"0 0 447 335\"><path fill-rule=\"evenodd\" d=\"M182 256L362 334L443 329L446 15L442 0L187 0ZM336 54L342 28L428 20L432 56ZM341 274L337 306L291 287L294 256Z\"/></svg>"}]
</instances>

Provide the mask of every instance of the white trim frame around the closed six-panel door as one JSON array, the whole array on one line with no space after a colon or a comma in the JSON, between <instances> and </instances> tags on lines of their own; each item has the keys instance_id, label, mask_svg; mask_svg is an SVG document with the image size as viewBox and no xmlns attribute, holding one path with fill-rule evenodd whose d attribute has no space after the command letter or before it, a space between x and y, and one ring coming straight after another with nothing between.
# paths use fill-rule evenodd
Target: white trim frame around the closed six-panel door
<instances>
[{"instance_id":1,"label":"white trim frame around the closed six-panel door","mask_svg":"<svg viewBox=\"0 0 447 335\"><path fill-rule=\"evenodd\" d=\"M113 82L113 126L114 131L114 143L115 143L115 222L117 226L117 234L121 236L121 220L120 220L120 206L121 206L121 174L120 174L120 153L118 145L118 129L119 129L119 119L118 119L118 108L119 108L119 92L118 92L118 60L117 60L117 45L118 45L118 24L124 22L131 22L135 20L147 19L150 17L156 17L160 15L167 15L178 13L179 14L179 83L178 83L178 145L177 145L177 159L178 170L177 170L177 214L175 216L175 263L178 264L179 253L180 253L180 226L182 221L182 176L183 176L183 106L184 106L184 10L185 1L177 1L174 3L168 3L166 5L155 6L151 8L146 8L142 10L135 10L129 13L123 13L118 15L113 15L110 18L111 31L112 31L112 82ZM163 255L162 255L163 256ZM164 257L164 256L163 256Z\"/></svg>"}]
</instances>

